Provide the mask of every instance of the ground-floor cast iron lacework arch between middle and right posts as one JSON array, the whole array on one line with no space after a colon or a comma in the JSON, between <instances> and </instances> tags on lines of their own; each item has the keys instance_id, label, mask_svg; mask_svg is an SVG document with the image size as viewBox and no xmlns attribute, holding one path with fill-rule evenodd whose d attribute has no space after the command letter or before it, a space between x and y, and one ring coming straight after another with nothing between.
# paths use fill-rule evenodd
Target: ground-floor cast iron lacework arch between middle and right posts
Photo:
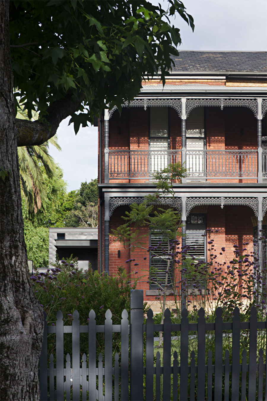
<instances>
[{"instance_id":1,"label":"ground-floor cast iron lacework arch between middle and right posts","mask_svg":"<svg viewBox=\"0 0 267 401\"><path fill-rule=\"evenodd\" d=\"M186 200L186 215L188 216L191 209L198 205L208 205L208 206L221 206L223 209L224 206L249 206L255 213L255 216L258 216L258 199L257 198L228 198L224 196L216 197L216 198L187 198Z\"/></svg>"}]
</instances>

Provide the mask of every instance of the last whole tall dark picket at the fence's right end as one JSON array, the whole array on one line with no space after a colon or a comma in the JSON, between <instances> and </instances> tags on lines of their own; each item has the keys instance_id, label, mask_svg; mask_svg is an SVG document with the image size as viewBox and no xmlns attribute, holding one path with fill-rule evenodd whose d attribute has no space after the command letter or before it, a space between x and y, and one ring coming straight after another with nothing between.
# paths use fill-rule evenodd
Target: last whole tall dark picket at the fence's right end
<instances>
[{"instance_id":1,"label":"last whole tall dark picket at the fence's right end","mask_svg":"<svg viewBox=\"0 0 267 401\"><path fill-rule=\"evenodd\" d=\"M248 401L256 399L257 371L257 309L251 307L249 318L249 394Z\"/></svg>"}]
</instances>

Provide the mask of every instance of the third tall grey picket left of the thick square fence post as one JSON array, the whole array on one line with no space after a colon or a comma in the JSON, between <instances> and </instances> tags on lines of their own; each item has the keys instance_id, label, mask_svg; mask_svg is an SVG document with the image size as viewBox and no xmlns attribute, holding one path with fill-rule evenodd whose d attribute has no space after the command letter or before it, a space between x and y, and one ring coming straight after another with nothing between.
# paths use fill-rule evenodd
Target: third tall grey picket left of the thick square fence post
<instances>
[{"instance_id":1,"label":"third tall grey picket left of the thick square fence post","mask_svg":"<svg viewBox=\"0 0 267 401\"><path fill-rule=\"evenodd\" d=\"M96 314L91 309L88 320L88 393L89 400L96 399Z\"/></svg>"}]
</instances>

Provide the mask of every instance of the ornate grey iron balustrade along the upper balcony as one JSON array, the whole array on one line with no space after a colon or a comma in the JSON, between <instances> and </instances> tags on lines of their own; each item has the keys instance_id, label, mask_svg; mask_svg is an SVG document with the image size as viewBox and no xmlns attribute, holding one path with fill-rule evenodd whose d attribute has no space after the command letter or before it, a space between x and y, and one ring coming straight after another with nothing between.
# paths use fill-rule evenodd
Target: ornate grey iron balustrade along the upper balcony
<instances>
[{"instance_id":1,"label":"ornate grey iron balustrade along the upper balcony","mask_svg":"<svg viewBox=\"0 0 267 401\"><path fill-rule=\"evenodd\" d=\"M262 157L266 177L267 151ZM151 178L181 160L181 150L109 150L109 177ZM187 178L257 178L257 150L187 150L186 167Z\"/></svg>"}]
</instances>

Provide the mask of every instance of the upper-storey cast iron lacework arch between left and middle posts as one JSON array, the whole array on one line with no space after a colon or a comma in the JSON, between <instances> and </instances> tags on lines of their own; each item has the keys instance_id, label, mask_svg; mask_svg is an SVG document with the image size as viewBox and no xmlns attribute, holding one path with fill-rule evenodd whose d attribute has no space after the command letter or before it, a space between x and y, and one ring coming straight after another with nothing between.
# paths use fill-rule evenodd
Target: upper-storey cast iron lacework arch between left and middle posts
<instances>
[{"instance_id":1,"label":"upper-storey cast iron lacework arch between left and middle posts","mask_svg":"<svg viewBox=\"0 0 267 401\"><path fill-rule=\"evenodd\" d=\"M181 99L134 99L130 101L130 104L122 104L122 107L144 107L147 110L147 107L173 107L175 111L179 114L179 117L182 115L182 102ZM112 114L117 109L117 106L112 107L109 112L109 118L112 117Z\"/></svg>"}]
</instances>

